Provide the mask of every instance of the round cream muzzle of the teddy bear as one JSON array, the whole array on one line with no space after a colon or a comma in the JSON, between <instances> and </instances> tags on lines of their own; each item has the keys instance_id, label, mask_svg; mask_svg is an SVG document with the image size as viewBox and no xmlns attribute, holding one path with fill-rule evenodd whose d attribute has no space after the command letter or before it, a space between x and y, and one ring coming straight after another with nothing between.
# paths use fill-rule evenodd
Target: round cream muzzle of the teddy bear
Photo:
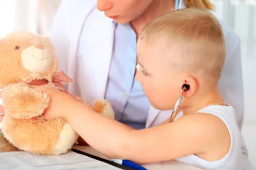
<instances>
[{"instance_id":1,"label":"round cream muzzle of the teddy bear","mask_svg":"<svg viewBox=\"0 0 256 170\"><path fill-rule=\"evenodd\" d=\"M31 73L47 72L52 65L52 58L41 44L29 46L21 53L22 64Z\"/></svg>"}]
</instances>

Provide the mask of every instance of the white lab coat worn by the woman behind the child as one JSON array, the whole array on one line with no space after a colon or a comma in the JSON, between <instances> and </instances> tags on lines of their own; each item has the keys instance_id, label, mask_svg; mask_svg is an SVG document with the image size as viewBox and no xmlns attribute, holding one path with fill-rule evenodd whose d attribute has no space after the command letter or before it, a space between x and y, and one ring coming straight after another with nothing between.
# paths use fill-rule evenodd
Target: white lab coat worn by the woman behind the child
<instances>
[{"instance_id":1,"label":"white lab coat worn by the woman behind the child","mask_svg":"<svg viewBox=\"0 0 256 170\"><path fill-rule=\"evenodd\" d=\"M184 7L183 1L180 1L178 8ZM237 123L241 129L244 96L240 42L227 24L221 22L221 25L227 42L227 59L219 87L222 97L235 108ZM84 46L79 48L85 48L83 57L86 63L83 63L85 79L79 80L76 77L76 58L82 29L86 32L87 38L83 40ZM60 70L73 79L73 83L68 85L68 91L80 96L78 84L86 84L83 87L83 95L90 104L94 99L102 99L105 96L113 52L114 29L113 20L97 10L96 0L62 0L53 20L50 38L55 45ZM171 113L171 111L158 111L150 107L146 128L162 123ZM242 143L243 154L247 159L247 150L243 140Z\"/></svg>"}]
</instances>

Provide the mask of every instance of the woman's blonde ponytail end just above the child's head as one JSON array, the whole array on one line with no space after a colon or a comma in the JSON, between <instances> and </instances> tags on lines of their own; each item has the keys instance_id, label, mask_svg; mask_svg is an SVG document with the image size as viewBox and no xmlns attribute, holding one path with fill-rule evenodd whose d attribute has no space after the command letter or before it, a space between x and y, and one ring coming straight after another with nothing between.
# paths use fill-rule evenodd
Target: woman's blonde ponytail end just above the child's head
<instances>
[{"instance_id":1,"label":"woman's blonde ponytail end just above the child's head","mask_svg":"<svg viewBox=\"0 0 256 170\"><path fill-rule=\"evenodd\" d=\"M210 0L184 0L186 7L199 7L201 9L215 10L215 5Z\"/></svg>"}]
</instances>

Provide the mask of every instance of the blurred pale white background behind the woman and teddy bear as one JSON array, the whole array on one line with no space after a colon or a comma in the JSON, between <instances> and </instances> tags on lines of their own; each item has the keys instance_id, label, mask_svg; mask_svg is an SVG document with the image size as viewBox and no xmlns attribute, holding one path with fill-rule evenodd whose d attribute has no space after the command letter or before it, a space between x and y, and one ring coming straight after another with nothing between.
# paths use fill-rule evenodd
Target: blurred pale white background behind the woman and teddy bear
<instances>
[{"instance_id":1,"label":"blurred pale white background behind the woman and teddy bear","mask_svg":"<svg viewBox=\"0 0 256 170\"><path fill-rule=\"evenodd\" d=\"M70 0L76 1L76 0ZM61 0L0 0L0 38L14 30L46 35ZM241 39L245 117L243 136L256 168L256 0L212 0L213 13L233 28Z\"/></svg>"}]
</instances>

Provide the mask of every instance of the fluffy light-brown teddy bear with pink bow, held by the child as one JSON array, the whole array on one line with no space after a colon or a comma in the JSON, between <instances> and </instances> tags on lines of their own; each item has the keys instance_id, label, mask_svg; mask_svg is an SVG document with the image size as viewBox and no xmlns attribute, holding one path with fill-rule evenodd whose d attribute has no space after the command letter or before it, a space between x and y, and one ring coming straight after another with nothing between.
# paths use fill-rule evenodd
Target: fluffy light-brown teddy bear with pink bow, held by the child
<instances>
[{"instance_id":1,"label":"fluffy light-brown teddy bear with pink bow, held by the child","mask_svg":"<svg viewBox=\"0 0 256 170\"><path fill-rule=\"evenodd\" d=\"M35 86L59 87L67 92L65 84L71 81L65 73L58 72L51 40L28 31L11 32L0 39L0 63L5 109L0 152L24 150L40 155L68 152L77 143L78 134L65 117L44 119L43 113L51 100L45 92L34 89ZM95 100L91 109L115 118L107 100Z\"/></svg>"}]
</instances>

